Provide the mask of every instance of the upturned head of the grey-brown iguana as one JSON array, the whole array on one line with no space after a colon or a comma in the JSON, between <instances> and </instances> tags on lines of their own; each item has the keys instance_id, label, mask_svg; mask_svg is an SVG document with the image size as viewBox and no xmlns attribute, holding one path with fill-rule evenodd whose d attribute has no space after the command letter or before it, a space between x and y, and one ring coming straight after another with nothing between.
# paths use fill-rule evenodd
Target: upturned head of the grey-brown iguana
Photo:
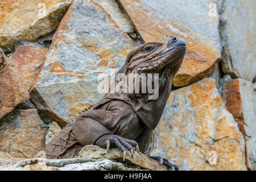
<instances>
[{"instance_id":1,"label":"upturned head of the grey-brown iguana","mask_svg":"<svg viewBox=\"0 0 256 182\"><path fill-rule=\"evenodd\" d=\"M125 73L162 73L171 68L172 78L185 55L183 39L166 35L160 42L148 42L131 50L126 58Z\"/></svg>"}]
</instances>

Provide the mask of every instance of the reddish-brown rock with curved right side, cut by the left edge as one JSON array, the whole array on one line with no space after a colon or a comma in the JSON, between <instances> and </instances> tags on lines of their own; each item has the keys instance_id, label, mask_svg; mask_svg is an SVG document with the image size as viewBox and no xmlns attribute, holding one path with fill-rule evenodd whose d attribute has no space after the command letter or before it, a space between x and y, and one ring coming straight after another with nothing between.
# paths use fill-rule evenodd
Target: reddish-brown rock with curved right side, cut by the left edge
<instances>
[{"instance_id":1,"label":"reddish-brown rock with curved right side, cut by the left edge","mask_svg":"<svg viewBox=\"0 0 256 182\"><path fill-rule=\"evenodd\" d=\"M0 48L0 119L14 107L30 98L21 80L20 71L13 60Z\"/></svg>"}]
</instances>

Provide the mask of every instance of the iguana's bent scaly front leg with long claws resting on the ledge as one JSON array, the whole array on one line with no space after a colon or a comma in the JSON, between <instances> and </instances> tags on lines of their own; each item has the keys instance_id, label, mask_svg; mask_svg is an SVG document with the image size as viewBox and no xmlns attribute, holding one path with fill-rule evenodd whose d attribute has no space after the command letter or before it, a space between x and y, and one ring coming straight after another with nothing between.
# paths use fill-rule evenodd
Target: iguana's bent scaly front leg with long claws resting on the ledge
<instances>
[{"instance_id":1,"label":"iguana's bent scaly front leg with long claws resting on the ledge","mask_svg":"<svg viewBox=\"0 0 256 182\"><path fill-rule=\"evenodd\" d=\"M83 145L96 144L97 146L107 148L110 146L118 147L123 151L124 158L126 150L133 154L134 148L138 149L138 144L134 140L114 135L105 126L110 126L120 116L112 111L91 110L79 115L73 124L73 134L79 143ZM104 126L105 125L105 126Z\"/></svg>"}]
</instances>

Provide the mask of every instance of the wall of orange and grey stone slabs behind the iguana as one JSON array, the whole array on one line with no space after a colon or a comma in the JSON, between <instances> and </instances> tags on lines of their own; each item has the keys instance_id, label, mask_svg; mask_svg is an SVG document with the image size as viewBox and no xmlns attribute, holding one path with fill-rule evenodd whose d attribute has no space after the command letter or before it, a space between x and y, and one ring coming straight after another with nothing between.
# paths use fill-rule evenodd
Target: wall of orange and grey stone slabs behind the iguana
<instances>
[{"instance_id":1,"label":"wall of orange and grey stone slabs behind the iguana","mask_svg":"<svg viewBox=\"0 0 256 182\"><path fill-rule=\"evenodd\" d=\"M98 75L170 34L187 53L148 152L182 170L256 170L255 18L254 0L0 0L0 166L133 169L28 158L100 100Z\"/></svg>"}]
</instances>

